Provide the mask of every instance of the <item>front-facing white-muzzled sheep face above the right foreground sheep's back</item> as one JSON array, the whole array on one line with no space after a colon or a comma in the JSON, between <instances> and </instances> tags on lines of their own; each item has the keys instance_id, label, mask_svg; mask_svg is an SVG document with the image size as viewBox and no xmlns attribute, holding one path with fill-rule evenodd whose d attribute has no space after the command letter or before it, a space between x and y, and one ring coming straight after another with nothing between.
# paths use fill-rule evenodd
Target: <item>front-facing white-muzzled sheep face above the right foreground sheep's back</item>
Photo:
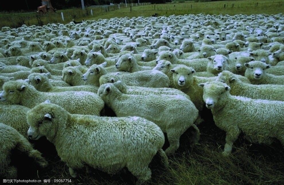
<instances>
[{"instance_id":1,"label":"front-facing white-muzzled sheep face above the right foreground sheep's back","mask_svg":"<svg viewBox=\"0 0 284 185\"><path fill-rule=\"evenodd\" d=\"M266 74L266 69L270 68L270 65L260 61L245 63L244 66L246 66L245 76L249 80L261 80Z\"/></svg>"}]
</instances>

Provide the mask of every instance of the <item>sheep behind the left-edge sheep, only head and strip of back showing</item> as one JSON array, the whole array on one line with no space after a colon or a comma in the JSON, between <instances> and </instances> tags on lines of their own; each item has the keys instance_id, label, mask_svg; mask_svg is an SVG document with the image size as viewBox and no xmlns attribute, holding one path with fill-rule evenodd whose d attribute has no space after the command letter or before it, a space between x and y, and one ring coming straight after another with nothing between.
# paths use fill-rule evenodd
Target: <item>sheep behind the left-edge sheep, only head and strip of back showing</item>
<instances>
[{"instance_id":1,"label":"sheep behind the left-edge sheep, only head and strip of back showing","mask_svg":"<svg viewBox=\"0 0 284 185\"><path fill-rule=\"evenodd\" d=\"M65 92L65 91L88 91L97 93L98 88L95 86L70 86L60 87L53 86L48 79L48 73L32 73L28 76L29 83L41 92Z\"/></svg>"}]
</instances>

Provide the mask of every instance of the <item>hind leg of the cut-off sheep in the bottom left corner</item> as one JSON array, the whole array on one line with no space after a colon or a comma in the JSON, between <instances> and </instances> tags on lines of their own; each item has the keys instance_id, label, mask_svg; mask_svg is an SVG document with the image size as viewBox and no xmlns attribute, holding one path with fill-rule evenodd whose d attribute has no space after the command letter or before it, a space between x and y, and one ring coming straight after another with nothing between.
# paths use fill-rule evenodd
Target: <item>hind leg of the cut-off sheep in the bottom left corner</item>
<instances>
[{"instance_id":1,"label":"hind leg of the cut-off sheep in the bottom left corner","mask_svg":"<svg viewBox=\"0 0 284 185\"><path fill-rule=\"evenodd\" d=\"M38 150L33 149L32 145L24 137L19 140L16 148L24 153L27 153L30 158L33 158L42 168L45 168L48 163L41 156L41 153Z\"/></svg>"}]
</instances>

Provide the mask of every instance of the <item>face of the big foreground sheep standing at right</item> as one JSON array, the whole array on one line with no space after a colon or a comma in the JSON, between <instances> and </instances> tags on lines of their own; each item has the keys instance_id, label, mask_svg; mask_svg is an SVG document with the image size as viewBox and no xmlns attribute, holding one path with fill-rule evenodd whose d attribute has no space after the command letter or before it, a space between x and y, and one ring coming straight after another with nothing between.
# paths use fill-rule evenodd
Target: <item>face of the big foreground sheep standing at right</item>
<instances>
[{"instance_id":1,"label":"face of the big foreground sheep standing at right","mask_svg":"<svg viewBox=\"0 0 284 185\"><path fill-rule=\"evenodd\" d=\"M228 96L230 87L222 82L206 82L198 84L203 88L203 101L208 109L214 108L216 105L222 105L222 100ZM221 101L220 101L221 100Z\"/></svg>"}]
</instances>

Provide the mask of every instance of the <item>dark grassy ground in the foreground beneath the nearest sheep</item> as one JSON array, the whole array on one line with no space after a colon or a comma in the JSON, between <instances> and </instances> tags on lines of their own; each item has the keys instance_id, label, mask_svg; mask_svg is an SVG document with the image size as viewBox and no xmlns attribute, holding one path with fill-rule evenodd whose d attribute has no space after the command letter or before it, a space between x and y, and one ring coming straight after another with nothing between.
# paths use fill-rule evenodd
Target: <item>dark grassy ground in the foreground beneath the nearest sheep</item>
<instances>
[{"instance_id":1,"label":"dark grassy ground in the foreground beneath the nearest sheep","mask_svg":"<svg viewBox=\"0 0 284 185\"><path fill-rule=\"evenodd\" d=\"M190 131L182 135L179 150L169 157L169 170L163 169L155 156L150 164L152 179L148 184L284 184L284 149L278 141L269 146L257 145L239 137L232 155L223 157L225 133L214 125L211 116L208 110L203 112L205 123L199 125L201 138L194 148L187 144ZM50 168L36 171L28 161L18 159L20 164L25 161L30 167L20 168L18 179L71 179L72 183L68 184L134 184L136 181L127 169L109 175L99 170L88 174L84 168L73 179L51 143L44 138L34 143L44 153ZM167 145L166 142L164 147Z\"/></svg>"}]
</instances>

